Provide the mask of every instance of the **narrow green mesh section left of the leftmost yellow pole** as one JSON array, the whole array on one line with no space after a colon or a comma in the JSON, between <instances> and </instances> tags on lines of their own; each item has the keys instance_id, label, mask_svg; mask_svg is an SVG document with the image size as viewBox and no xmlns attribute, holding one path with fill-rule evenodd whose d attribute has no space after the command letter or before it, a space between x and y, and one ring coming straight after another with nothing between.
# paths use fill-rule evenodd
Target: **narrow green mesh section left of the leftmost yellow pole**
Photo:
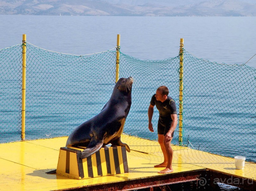
<instances>
[{"instance_id":1,"label":"narrow green mesh section left of the leftmost yellow pole","mask_svg":"<svg viewBox=\"0 0 256 191\"><path fill-rule=\"evenodd\" d=\"M21 140L21 46L0 50L0 143Z\"/></svg>"}]
</instances>

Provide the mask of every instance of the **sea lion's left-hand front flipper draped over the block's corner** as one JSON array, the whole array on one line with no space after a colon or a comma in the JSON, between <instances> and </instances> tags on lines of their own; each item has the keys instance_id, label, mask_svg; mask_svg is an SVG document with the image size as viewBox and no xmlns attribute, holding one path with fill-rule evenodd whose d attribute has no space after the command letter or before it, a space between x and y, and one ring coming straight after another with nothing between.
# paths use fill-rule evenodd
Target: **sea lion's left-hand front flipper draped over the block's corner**
<instances>
[{"instance_id":1,"label":"sea lion's left-hand front flipper draped over the block's corner","mask_svg":"<svg viewBox=\"0 0 256 191\"><path fill-rule=\"evenodd\" d=\"M95 137L92 137L89 145L82 151L80 158L86 158L99 151L103 146L103 139L97 140Z\"/></svg>"}]
</instances>

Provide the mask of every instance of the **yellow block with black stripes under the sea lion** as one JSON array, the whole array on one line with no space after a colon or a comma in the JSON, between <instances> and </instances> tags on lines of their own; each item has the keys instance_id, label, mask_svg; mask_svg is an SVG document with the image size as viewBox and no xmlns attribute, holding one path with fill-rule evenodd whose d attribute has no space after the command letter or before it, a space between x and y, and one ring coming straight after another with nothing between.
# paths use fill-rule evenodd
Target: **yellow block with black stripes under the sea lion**
<instances>
[{"instance_id":1,"label":"yellow block with black stripes under the sea lion","mask_svg":"<svg viewBox=\"0 0 256 191\"><path fill-rule=\"evenodd\" d=\"M61 147L56 174L74 179L108 176L128 172L125 146L102 147L81 159L82 147Z\"/></svg>"}]
</instances>

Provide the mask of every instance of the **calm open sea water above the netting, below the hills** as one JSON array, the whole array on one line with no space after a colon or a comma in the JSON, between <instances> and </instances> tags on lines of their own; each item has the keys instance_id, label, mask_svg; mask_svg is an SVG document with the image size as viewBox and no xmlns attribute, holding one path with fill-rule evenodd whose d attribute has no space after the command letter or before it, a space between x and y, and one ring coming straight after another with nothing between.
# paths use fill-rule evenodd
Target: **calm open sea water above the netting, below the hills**
<instances>
[{"instance_id":1,"label":"calm open sea water above the netting, below the hills","mask_svg":"<svg viewBox=\"0 0 256 191\"><path fill-rule=\"evenodd\" d=\"M177 56L184 38L197 57L242 64L256 53L255 23L256 17L0 15L0 49L21 43L25 33L41 48L84 55L114 48L121 34L121 52L143 60ZM256 56L247 65L256 68Z\"/></svg>"}]
</instances>

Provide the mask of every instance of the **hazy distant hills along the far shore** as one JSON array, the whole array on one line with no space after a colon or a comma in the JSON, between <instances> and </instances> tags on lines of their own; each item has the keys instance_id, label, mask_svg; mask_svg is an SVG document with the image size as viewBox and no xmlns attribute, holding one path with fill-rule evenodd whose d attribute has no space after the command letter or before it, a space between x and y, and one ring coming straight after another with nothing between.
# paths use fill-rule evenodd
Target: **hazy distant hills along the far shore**
<instances>
[{"instance_id":1,"label":"hazy distant hills along the far shore","mask_svg":"<svg viewBox=\"0 0 256 191\"><path fill-rule=\"evenodd\" d=\"M0 15L256 16L255 0L0 0Z\"/></svg>"}]
</instances>

